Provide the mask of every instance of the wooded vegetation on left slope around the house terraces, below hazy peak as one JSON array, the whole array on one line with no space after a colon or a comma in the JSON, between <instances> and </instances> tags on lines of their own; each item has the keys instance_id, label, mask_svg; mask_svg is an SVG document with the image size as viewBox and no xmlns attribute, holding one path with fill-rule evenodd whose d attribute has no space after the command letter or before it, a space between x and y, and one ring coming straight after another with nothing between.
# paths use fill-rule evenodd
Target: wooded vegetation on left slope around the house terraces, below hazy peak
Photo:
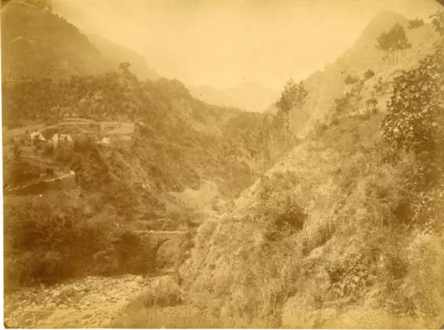
<instances>
[{"instance_id":1,"label":"wooded vegetation on left slope around the house terraces, below hazy peak","mask_svg":"<svg viewBox=\"0 0 444 330\"><path fill-rule=\"evenodd\" d=\"M8 188L40 180L42 170L26 157L68 166L80 188L68 195L45 193L36 200L28 196L5 200L8 286L99 272L90 265L103 266L105 275L139 271L130 264L153 267L152 256L123 264L126 259L119 257L123 252L112 242L128 233L116 229L116 224L150 220L153 229L192 229L197 214L180 205L171 192L200 189L212 181L221 198L230 202L286 150L279 146L282 131L271 124L275 119L205 105L177 80L139 80L128 63L122 63L116 73L6 84L2 102L3 123L10 128L18 126L24 132L26 126L20 128L24 123L46 122L48 127L41 131L46 139L55 133L74 139L72 146L58 148L28 141L26 134L13 143L6 139L10 152L4 157L3 177ZM76 126L79 118L92 121ZM106 132L101 121L135 122L130 132L133 139L102 146L99 141ZM28 203L26 209L20 209L23 203ZM159 219L162 225L156 225ZM89 232L83 234L85 226ZM26 243L28 236L41 238L32 249ZM92 243L87 245L87 256L74 248L83 244L83 236ZM68 267L68 260L75 262Z\"/></svg>"}]
</instances>

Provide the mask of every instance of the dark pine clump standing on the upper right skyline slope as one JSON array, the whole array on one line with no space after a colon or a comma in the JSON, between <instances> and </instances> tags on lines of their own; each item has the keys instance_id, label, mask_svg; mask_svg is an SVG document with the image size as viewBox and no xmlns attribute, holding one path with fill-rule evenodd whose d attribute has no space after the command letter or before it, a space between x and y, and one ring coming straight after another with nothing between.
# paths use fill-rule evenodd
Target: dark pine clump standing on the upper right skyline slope
<instances>
[{"instance_id":1,"label":"dark pine clump standing on the upper right skyline slope","mask_svg":"<svg viewBox=\"0 0 444 330\"><path fill-rule=\"evenodd\" d=\"M399 52L411 48L401 24L395 24L388 32L383 32L376 39L376 48L386 53L385 59L393 57L393 64L398 64Z\"/></svg>"}]
</instances>

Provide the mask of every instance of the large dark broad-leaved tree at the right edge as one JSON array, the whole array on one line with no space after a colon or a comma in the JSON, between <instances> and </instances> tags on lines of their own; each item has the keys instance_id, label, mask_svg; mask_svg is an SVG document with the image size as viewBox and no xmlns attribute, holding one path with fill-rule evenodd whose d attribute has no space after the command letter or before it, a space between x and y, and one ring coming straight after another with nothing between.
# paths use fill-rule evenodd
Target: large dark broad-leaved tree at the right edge
<instances>
[{"instance_id":1,"label":"large dark broad-leaved tree at the right edge","mask_svg":"<svg viewBox=\"0 0 444 330\"><path fill-rule=\"evenodd\" d=\"M393 80L382 123L386 141L395 149L412 150L425 162L423 167L440 163L444 155L443 53L443 44L438 44L418 67Z\"/></svg>"}]
</instances>

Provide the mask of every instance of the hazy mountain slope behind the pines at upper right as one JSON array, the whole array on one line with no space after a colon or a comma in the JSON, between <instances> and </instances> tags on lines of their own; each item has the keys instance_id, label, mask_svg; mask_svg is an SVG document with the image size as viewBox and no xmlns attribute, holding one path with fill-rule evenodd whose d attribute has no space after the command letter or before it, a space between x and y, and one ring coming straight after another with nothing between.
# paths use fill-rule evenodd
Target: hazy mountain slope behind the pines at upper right
<instances>
[{"instance_id":1,"label":"hazy mountain slope behind the pines at upper right","mask_svg":"<svg viewBox=\"0 0 444 330\"><path fill-rule=\"evenodd\" d=\"M395 12L379 12L370 20L361 37L350 49L323 71L316 71L304 80L309 95L303 108L304 113L294 125L299 134L307 132L311 121L322 119L334 105L335 98L342 96L346 88L345 76L349 74L362 76L368 69L377 73L388 67L388 63L382 59L384 54L375 47L376 38L397 23L404 27L407 38L412 44L411 49L403 52L398 64L400 68L404 60L412 60L411 56L416 58L422 56L436 40L436 33L429 24L410 30L407 28L408 20L404 16Z\"/></svg>"}]
</instances>

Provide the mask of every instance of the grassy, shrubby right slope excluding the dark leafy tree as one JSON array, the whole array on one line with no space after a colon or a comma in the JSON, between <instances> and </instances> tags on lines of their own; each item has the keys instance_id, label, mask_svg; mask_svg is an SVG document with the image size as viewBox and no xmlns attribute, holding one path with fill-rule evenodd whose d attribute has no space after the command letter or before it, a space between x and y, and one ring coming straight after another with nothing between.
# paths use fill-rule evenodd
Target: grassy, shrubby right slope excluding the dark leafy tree
<instances>
[{"instance_id":1,"label":"grassy, shrubby right slope excluding the dark leafy tree","mask_svg":"<svg viewBox=\"0 0 444 330\"><path fill-rule=\"evenodd\" d=\"M382 112L389 93L376 94ZM405 222L416 164L411 155L386 162L383 118L343 118L308 137L223 220L204 223L182 268L191 301L225 327L441 325L443 229L424 234Z\"/></svg>"}]
</instances>

